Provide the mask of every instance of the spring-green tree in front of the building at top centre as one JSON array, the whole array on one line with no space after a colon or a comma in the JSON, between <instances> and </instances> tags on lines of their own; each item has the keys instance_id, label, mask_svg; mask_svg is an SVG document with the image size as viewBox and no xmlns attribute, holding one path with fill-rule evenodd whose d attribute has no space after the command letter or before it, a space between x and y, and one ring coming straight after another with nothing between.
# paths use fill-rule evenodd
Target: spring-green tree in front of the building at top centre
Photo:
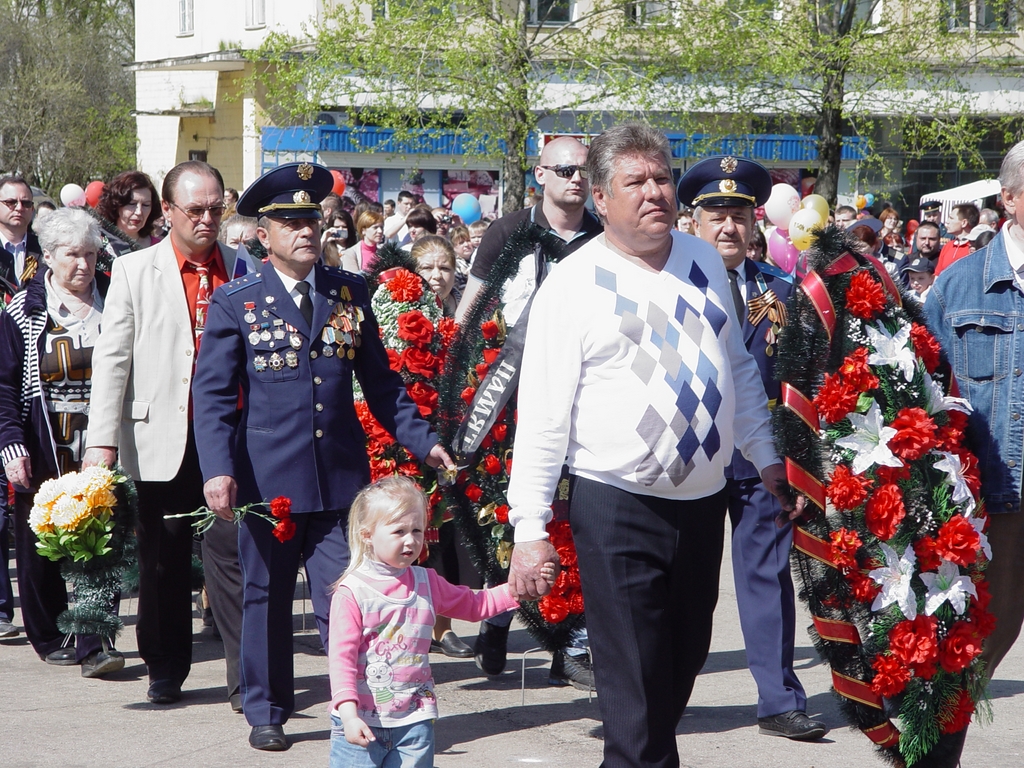
<instances>
[{"instance_id":1,"label":"spring-green tree in front of the building at top centre","mask_svg":"<svg viewBox=\"0 0 1024 768\"><path fill-rule=\"evenodd\" d=\"M572 7L343 3L301 38L271 34L251 59L279 124L311 124L317 111L337 106L354 125L399 129L399 139L458 128L470 154L502 158L509 212L522 206L526 137L542 118L635 112L656 85L655 67L637 54L644 31L631 20L634 3Z\"/></svg>"}]
</instances>

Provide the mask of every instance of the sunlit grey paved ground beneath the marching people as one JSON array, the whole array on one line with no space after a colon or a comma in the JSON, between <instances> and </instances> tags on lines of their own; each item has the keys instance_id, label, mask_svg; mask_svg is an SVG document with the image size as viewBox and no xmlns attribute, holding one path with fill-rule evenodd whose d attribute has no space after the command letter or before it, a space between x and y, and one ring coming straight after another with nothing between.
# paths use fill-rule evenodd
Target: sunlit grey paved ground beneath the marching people
<instances>
[{"instance_id":1,"label":"sunlit grey paved ground beneath the marching people","mask_svg":"<svg viewBox=\"0 0 1024 768\"><path fill-rule=\"evenodd\" d=\"M726 554L728 557L728 553ZM755 725L757 691L745 669L731 565L723 564L712 654L697 680L678 728L679 752L688 768L862 768L884 765L867 739L842 727L828 692L827 674L803 631L798 632L798 671L810 713L834 730L820 742L795 743L761 736ZM330 720L327 659L312 627L308 601L296 601L295 675L297 714L287 731L289 752L249 748L249 728L230 712L223 689L220 643L196 621L196 664L179 705L145 701L145 669L131 631L133 600L122 602L129 625L120 647L128 664L103 680L85 680L78 668L49 667L24 635L0 641L0 766L4 768L122 768L128 766L327 766ZM305 615L306 630L302 629ZM19 620L15 616L15 623ZM800 620L804 627L809 622ZM464 637L473 628L457 623ZM530 647L523 630L513 630L512 650ZM499 680L481 677L472 660L431 656L443 717L437 723L436 768L550 765L594 768L601 759L597 699L573 688L547 684L549 658L526 662L525 705L521 705L520 656ZM974 727L964 768L1024 765L1024 642L998 670L990 694L992 725Z\"/></svg>"}]
</instances>

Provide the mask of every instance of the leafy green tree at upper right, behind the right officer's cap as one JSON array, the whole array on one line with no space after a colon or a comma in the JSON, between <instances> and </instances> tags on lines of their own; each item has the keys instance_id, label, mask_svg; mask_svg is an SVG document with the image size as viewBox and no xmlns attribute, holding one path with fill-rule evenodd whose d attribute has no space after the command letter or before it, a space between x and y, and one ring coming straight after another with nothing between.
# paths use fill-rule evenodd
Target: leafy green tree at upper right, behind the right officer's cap
<instances>
[{"instance_id":1,"label":"leafy green tree at upper right, behind the right officer's cap","mask_svg":"<svg viewBox=\"0 0 1024 768\"><path fill-rule=\"evenodd\" d=\"M671 7L681 24L651 26L655 46L678 51L673 83L685 121L728 113L769 117L816 133L815 191L835 203L841 141L885 135L900 162L925 152L981 165L978 145L1010 125L1019 90L1020 0L728 0ZM663 11L663 17L666 11ZM998 92L985 100L981 89ZM1000 103L1001 100L1001 103ZM1002 114L1000 114L1002 113ZM872 147L877 148L877 147Z\"/></svg>"}]
</instances>

